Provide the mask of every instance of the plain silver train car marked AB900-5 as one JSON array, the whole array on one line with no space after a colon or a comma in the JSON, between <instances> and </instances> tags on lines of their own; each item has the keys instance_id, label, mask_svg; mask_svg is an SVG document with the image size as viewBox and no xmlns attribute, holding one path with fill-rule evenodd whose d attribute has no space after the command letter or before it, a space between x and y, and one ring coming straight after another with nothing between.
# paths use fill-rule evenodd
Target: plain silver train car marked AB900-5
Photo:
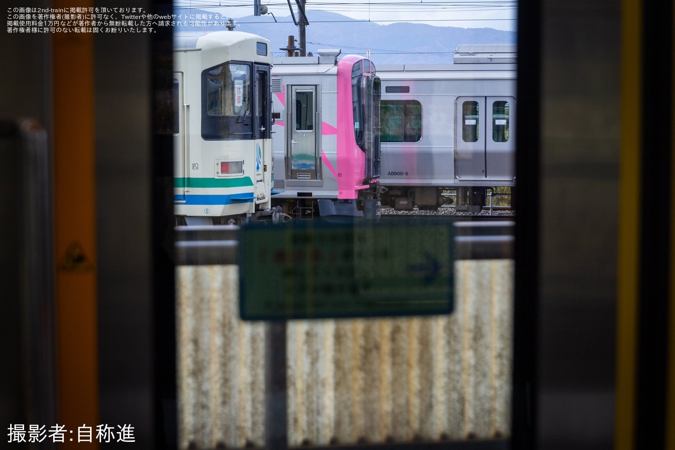
<instances>
[{"instance_id":1,"label":"plain silver train car marked AB900-5","mask_svg":"<svg viewBox=\"0 0 675 450\"><path fill-rule=\"evenodd\" d=\"M436 208L454 189L478 209L514 186L515 47L462 45L448 65L380 65L383 204Z\"/></svg>"}]
</instances>

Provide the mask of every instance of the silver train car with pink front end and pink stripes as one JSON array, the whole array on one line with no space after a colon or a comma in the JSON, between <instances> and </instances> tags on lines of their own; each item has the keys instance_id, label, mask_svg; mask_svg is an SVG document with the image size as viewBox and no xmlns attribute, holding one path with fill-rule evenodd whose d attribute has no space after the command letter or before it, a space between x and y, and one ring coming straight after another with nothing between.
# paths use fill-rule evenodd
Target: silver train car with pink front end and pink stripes
<instances>
[{"instance_id":1,"label":"silver train car with pink front end and pink stripes","mask_svg":"<svg viewBox=\"0 0 675 450\"><path fill-rule=\"evenodd\" d=\"M377 196L379 78L369 59L338 54L274 61L273 200L287 213L313 215L317 200L362 210Z\"/></svg>"}]
</instances>

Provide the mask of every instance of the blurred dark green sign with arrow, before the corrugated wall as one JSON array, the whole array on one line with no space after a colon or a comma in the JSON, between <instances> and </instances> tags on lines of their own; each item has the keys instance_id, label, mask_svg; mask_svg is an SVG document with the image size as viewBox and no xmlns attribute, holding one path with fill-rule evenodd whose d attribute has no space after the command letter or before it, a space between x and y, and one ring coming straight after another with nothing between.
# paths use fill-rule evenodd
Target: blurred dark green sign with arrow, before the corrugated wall
<instances>
[{"instance_id":1,"label":"blurred dark green sign with arrow, before the corrugated wall","mask_svg":"<svg viewBox=\"0 0 675 450\"><path fill-rule=\"evenodd\" d=\"M448 221L242 227L244 320L448 314L454 229Z\"/></svg>"}]
</instances>

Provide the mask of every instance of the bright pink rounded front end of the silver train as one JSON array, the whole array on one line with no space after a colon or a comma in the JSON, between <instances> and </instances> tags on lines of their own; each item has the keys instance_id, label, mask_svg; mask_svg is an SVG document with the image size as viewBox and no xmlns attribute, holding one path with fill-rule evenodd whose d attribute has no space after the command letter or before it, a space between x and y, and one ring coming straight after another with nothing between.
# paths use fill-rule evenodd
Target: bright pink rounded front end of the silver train
<instances>
[{"instance_id":1,"label":"bright pink rounded front end of the silver train","mask_svg":"<svg viewBox=\"0 0 675 450\"><path fill-rule=\"evenodd\" d=\"M379 199L380 79L369 59L348 55L338 63L338 199L374 213Z\"/></svg>"}]
</instances>

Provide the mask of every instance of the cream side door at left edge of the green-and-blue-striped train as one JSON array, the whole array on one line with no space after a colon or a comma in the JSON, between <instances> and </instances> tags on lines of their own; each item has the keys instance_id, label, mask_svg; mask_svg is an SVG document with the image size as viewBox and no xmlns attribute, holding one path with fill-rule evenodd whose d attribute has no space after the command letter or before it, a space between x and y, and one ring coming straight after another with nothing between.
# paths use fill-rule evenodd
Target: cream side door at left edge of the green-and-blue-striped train
<instances>
[{"instance_id":1,"label":"cream side door at left edge of the green-and-blue-striped train","mask_svg":"<svg viewBox=\"0 0 675 450\"><path fill-rule=\"evenodd\" d=\"M176 179L174 186L180 188L180 192L175 192L173 201L175 203L185 202L185 192L190 188L190 171L188 170L188 151L190 142L189 136L185 130L185 109L183 92L183 73L173 73L173 148L175 154L174 177ZM177 190L178 191L178 190Z\"/></svg>"}]
</instances>

